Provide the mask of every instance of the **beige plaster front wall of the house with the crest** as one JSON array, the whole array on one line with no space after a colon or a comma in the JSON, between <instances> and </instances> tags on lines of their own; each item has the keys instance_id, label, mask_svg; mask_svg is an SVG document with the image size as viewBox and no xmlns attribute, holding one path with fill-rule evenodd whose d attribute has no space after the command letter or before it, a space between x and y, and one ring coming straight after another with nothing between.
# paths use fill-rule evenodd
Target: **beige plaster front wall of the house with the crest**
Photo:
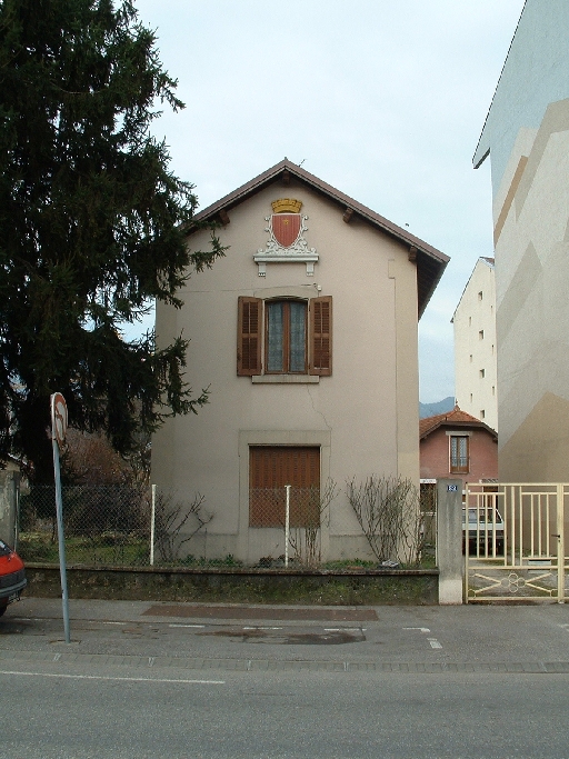
<instances>
[{"instance_id":1,"label":"beige plaster front wall of the house with the crest","mask_svg":"<svg viewBox=\"0 0 569 759\"><path fill-rule=\"evenodd\" d=\"M309 217L306 239L319 254L313 277L305 263L268 263L259 277L253 254L267 246L264 219L281 197L301 200ZM416 266L397 241L367 222L346 223L342 213L293 181L262 189L230 210L219 230L229 250L212 270L192 276L183 309L157 309L159 343L180 332L190 338L187 379L211 396L198 416L169 420L154 437L152 481L180 498L206 497L214 515L211 555L254 562L283 552L280 530L248 527L249 445L320 447L321 481L331 478L340 489L322 530L327 557L369 555L343 492L347 479L376 472L418 483ZM190 246L206 248L208 234L193 234ZM239 296L332 296L332 376L293 385L238 377Z\"/></svg>"}]
</instances>

